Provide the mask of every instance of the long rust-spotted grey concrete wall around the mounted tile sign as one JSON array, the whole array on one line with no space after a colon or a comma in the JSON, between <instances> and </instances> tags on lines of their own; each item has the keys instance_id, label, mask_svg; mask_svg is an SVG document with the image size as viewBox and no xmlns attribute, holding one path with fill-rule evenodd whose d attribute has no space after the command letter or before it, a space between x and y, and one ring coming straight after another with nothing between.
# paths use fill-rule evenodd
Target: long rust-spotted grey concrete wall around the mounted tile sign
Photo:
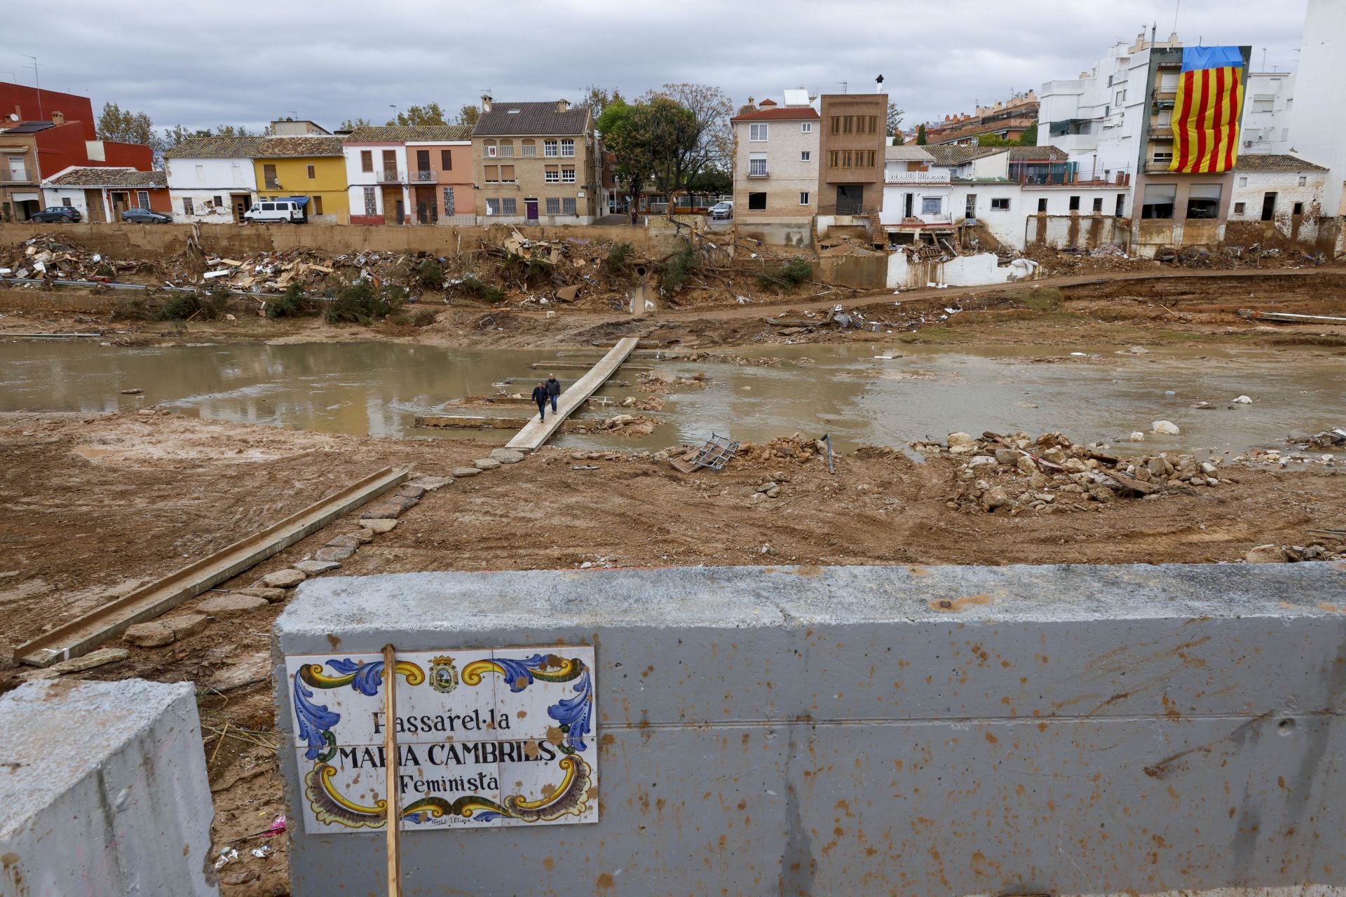
<instances>
[{"instance_id":1,"label":"long rust-spotted grey concrete wall around the mounted tile sign","mask_svg":"<svg viewBox=\"0 0 1346 897\"><path fill-rule=\"evenodd\" d=\"M596 646L598 824L408 832L408 896L1346 893L1346 565L322 578L273 652L388 641Z\"/></svg>"}]
</instances>

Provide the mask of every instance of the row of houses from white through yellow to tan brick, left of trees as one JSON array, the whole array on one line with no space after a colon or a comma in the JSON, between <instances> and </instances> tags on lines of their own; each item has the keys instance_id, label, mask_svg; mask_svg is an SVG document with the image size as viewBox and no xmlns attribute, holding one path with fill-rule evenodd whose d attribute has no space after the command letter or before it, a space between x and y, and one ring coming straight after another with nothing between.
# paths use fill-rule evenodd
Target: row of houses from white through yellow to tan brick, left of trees
<instances>
[{"instance_id":1,"label":"row of houses from white through yellow to tan brick, left of trees","mask_svg":"<svg viewBox=\"0 0 1346 897\"><path fill-rule=\"evenodd\" d=\"M475 126L272 122L265 137L190 139L166 153L174 218L232 223L296 198L308 219L351 225L591 223L603 214L602 144L587 108L482 97Z\"/></svg>"}]
</instances>

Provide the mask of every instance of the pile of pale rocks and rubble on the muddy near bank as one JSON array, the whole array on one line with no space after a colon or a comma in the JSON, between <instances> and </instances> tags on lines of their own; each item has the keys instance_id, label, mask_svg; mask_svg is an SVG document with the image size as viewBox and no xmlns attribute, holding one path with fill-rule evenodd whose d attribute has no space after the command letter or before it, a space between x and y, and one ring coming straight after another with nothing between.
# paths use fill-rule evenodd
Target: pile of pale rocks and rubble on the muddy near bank
<instances>
[{"instance_id":1,"label":"pile of pale rocks and rubble on the muddy near bank","mask_svg":"<svg viewBox=\"0 0 1346 897\"><path fill-rule=\"evenodd\" d=\"M950 433L946 444L913 442L922 453L962 461L950 508L1018 515L1096 510L1127 498L1219 484L1219 468L1194 455L1164 452L1121 459L1104 444L1075 445L1061 433Z\"/></svg>"}]
</instances>

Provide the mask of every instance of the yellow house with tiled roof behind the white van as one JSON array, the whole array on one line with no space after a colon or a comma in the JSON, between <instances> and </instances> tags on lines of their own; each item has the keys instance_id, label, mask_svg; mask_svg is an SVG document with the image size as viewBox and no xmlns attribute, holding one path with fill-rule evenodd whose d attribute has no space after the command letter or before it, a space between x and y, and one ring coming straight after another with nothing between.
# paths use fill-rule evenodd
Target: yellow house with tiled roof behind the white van
<instances>
[{"instance_id":1,"label":"yellow house with tiled roof behind the white van","mask_svg":"<svg viewBox=\"0 0 1346 897\"><path fill-rule=\"evenodd\" d=\"M345 225L346 157L341 137L262 137L253 157L257 196L308 196L308 221Z\"/></svg>"}]
</instances>

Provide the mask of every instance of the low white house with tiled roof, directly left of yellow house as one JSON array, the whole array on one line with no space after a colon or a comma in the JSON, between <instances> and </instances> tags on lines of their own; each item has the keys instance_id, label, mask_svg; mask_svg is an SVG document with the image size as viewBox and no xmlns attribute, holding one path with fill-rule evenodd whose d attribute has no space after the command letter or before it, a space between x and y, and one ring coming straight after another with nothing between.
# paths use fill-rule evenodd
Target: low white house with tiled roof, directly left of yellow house
<instances>
[{"instance_id":1,"label":"low white house with tiled roof, directly left of yellow house","mask_svg":"<svg viewBox=\"0 0 1346 897\"><path fill-rule=\"evenodd\" d=\"M190 137L164 153L174 221L241 222L257 199L253 159L265 137Z\"/></svg>"}]
</instances>

